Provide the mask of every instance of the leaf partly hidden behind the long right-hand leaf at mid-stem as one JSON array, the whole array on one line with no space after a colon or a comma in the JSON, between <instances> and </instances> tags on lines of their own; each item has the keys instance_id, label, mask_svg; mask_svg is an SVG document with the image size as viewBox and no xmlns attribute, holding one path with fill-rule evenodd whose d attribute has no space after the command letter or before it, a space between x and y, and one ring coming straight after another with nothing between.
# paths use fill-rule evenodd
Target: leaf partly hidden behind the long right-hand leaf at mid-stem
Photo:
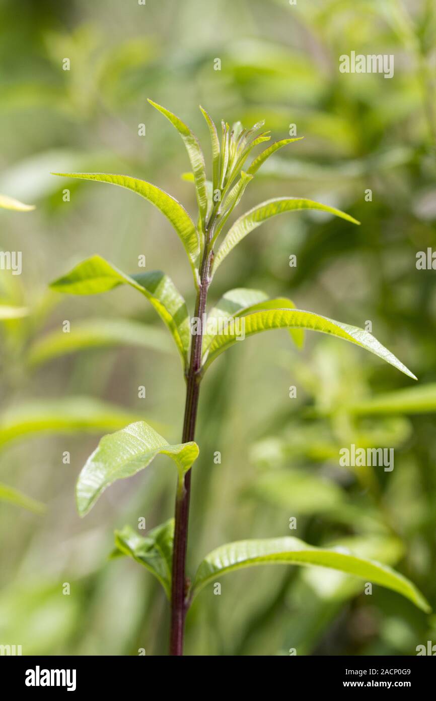
<instances>
[{"instance_id":1,"label":"leaf partly hidden behind the long right-hand leaf at mid-stem","mask_svg":"<svg viewBox=\"0 0 436 701\"><path fill-rule=\"evenodd\" d=\"M207 351L213 337L216 335L215 327L218 330L220 319L225 320L231 317L245 316L246 314L260 311L262 309L289 308L295 309L295 304L288 297L276 297L269 299L268 295L261 290L248 290L246 287L237 287L235 290L228 290L207 315L210 330L206 329L203 335L203 355L206 358ZM297 348L302 348L304 343L303 329L289 329Z\"/></svg>"}]
</instances>

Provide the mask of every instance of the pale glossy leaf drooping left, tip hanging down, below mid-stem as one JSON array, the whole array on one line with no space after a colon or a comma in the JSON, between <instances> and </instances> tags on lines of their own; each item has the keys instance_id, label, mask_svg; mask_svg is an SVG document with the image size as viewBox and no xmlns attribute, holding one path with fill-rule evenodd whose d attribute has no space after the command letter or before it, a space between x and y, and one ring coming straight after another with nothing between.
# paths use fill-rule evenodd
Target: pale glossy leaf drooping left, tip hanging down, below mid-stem
<instances>
[{"instance_id":1,"label":"pale glossy leaf drooping left, tip hanging down, below mid-stem","mask_svg":"<svg viewBox=\"0 0 436 701\"><path fill-rule=\"evenodd\" d=\"M196 443L170 445L145 421L136 421L104 436L78 477L76 503L79 515L87 514L106 487L117 479L136 475L158 454L167 455L176 463L181 489L185 472L198 456Z\"/></svg>"}]
</instances>

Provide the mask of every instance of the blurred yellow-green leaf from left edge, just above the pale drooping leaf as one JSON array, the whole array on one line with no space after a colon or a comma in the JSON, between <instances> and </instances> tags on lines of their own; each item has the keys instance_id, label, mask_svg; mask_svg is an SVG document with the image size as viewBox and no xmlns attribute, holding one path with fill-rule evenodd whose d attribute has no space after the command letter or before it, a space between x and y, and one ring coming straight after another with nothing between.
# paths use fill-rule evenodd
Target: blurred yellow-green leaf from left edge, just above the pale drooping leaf
<instances>
[{"instance_id":1,"label":"blurred yellow-green leaf from left edge, just above the pale drooping leaf","mask_svg":"<svg viewBox=\"0 0 436 701\"><path fill-rule=\"evenodd\" d=\"M69 397L20 404L0 416L0 445L38 433L101 433L143 418L115 404Z\"/></svg>"}]
</instances>

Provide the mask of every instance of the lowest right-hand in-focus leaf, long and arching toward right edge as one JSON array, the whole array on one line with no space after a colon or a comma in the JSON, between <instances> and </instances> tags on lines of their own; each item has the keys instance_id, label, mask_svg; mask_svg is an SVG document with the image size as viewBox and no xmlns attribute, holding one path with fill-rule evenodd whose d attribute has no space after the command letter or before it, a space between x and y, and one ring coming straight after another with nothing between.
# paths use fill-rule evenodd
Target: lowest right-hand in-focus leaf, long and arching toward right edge
<instances>
[{"instance_id":1,"label":"lowest right-hand in-focus leaf, long and arching toward right edge","mask_svg":"<svg viewBox=\"0 0 436 701\"><path fill-rule=\"evenodd\" d=\"M295 564L328 567L354 575L398 592L422 611L430 612L428 601L415 585L400 573L375 560L338 550L314 547L298 538L267 538L227 543L210 552L200 564L192 585L192 597L206 584L227 572L263 564Z\"/></svg>"}]
</instances>

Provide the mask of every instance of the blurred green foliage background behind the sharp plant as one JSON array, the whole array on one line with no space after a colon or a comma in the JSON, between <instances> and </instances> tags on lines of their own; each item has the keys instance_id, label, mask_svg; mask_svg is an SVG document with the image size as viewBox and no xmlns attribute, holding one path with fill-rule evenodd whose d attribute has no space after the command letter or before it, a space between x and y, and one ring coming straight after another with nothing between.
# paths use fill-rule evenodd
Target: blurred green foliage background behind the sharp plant
<instances>
[{"instance_id":1,"label":"blurred green foliage background behind the sharp plant","mask_svg":"<svg viewBox=\"0 0 436 701\"><path fill-rule=\"evenodd\" d=\"M43 655L167 651L159 585L108 555L114 529L171 517L173 466L157 458L108 489L83 521L73 488L100 435L129 421L146 418L180 440L180 362L133 290L48 292L50 280L94 253L126 272L145 254L148 270L168 273L192 311L188 261L160 212L122 189L50 175L143 177L195 214L192 184L181 179L183 143L147 97L190 125L208 165L198 104L218 123L265 118L274 140L297 125L304 140L262 168L238 214L292 195L362 222L297 212L264 224L220 268L211 302L253 287L358 326L370 320L419 377L415 385L321 334L307 334L302 352L283 331L222 355L202 386L190 573L229 540L297 535L392 564L435 604L436 273L415 264L416 252L435 245L433 1L1 0L0 27L0 192L36 205L0 217L1 247L23 256L22 275L1 272L0 301L30 310L1 322L0 482L45 505L24 501L24 509L3 487L0 643ZM339 55L351 50L395 55L393 79L340 74ZM62 346L64 320L83 346L76 352ZM393 447L393 472L339 468L339 448L352 442ZM435 636L435 618L381 587L366 596L361 581L331 571L255 568L224 578L220 596L202 592L186 653L413 655Z\"/></svg>"}]
</instances>

